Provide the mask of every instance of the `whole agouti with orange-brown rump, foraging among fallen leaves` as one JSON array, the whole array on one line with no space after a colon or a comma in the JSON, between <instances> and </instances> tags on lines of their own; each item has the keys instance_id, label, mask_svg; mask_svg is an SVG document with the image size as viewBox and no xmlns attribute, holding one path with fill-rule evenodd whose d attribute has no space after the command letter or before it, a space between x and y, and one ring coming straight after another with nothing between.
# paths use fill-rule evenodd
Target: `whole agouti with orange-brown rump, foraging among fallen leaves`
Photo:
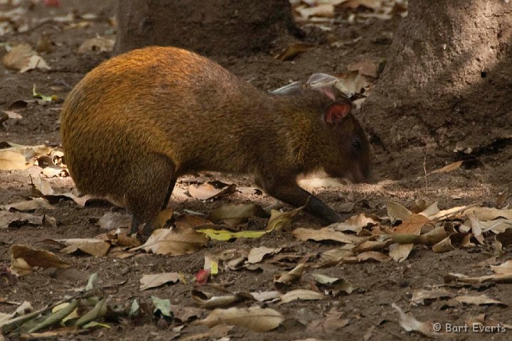
<instances>
[{"instance_id":1,"label":"whole agouti with orange-brown rump, foraging among fallen leaves","mask_svg":"<svg viewBox=\"0 0 512 341\"><path fill-rule=\"evenodd\" d=\"M187 173L252 173L269 195L307 202L332 223L338 214L297 175L323 169L360 182L370 163L351 102L331 85L267 93L171 47L132 50L85 75L65 100L60 133L78 190L127 207L131 233L145 222L145 236Z\"/></svg>"}]
</instances>

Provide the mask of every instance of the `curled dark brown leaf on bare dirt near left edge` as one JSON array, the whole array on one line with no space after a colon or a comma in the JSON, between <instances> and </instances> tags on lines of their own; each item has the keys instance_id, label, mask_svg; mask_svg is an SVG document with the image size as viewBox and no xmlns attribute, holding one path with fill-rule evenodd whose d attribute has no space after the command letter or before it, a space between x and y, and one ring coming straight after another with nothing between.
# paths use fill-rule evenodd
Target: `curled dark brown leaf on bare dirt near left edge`
<instances>
[{"instance_id":1,"label":"curled dark brown leaf on bare dirt near left edge","mask_svg":"<svg viewBox=\"0 0 512 341\"><path fill-rule=\"evenodd\" d=\"M67 268L65 261L61 261L52 252L38 249L31 249L25 245L13 245L11 247L11 271L18 276L24 276L32 272L33 267L46 268Z\"/></svg>"}]
</instances>

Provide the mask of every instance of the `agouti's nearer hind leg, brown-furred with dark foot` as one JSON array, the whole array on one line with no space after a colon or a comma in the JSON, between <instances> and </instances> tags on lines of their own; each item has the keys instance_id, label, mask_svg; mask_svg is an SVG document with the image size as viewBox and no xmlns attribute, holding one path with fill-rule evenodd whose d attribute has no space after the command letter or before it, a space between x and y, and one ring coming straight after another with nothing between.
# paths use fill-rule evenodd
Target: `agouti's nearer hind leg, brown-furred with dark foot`
<instances>
[{"instance_id":1,"label":"agouti's nearer hind leg, brown-furred with dark foot","mask_svg":"<svg viewBox=\"0 0 512 341\"><path fill-rule=\"evenodd\" d=\"M146 156L144 161L135 160L130 165L125 188L128 208L133 214L130 234L139 232L139 225L145 222L144 237L149 237L162 205L169 200L173 173L171 160L158 154Z\"/></svg>"}]
</instances>

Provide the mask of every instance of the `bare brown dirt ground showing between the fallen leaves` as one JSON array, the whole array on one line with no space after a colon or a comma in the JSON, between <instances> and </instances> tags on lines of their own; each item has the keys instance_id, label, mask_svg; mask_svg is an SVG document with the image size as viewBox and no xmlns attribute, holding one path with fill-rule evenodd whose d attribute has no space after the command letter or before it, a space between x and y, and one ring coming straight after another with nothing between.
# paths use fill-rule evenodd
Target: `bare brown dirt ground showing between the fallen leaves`
<instances>
[{"instance_id":1,"label":"bare brown dirt ground showing between the fallen leaves","mask_svg":"<svg viewBox=\"0 0 512 341\"><path fill-rule=\"evenodd\" d=\"M62 1L60 8L49 8L42 3L33 6L24 20L65 16L73 12L80 16L94 13L90 25L63 29L62 23L48 21L37 28L23 33L7 33L0 37L1 43L29 43L35 46L42 33L46 33L55 44L50 53L43 58L52 67L51 70L32 70L18 73L0 67L0 109L11 110L11 104L20 99L31 99L35 84L43 94L56 94L64 98L72 87L95 65L110 57L110 53L77 53L78 46L86 38L97 34L114 38L114 30L108 18L114 16L115 1L89 0ZM1 1L0 1L1 4ZM0 5L1 10L9 6ZM351 63L361 60L377 61L385 58L393 32L398 28L400 17L392 20L370 18L366 23L339 23L329 32L329 37L336 40L357 40L351 45L341 47L329 43L329 38L316 48L306 51L293 61L282 62L272 58L273 53L283 46L275 44L272 53L261 53L247 58L234 58L229 55L215 56L221 65L234 72L242 79L251 82L262 90L271 90L286 85L289 80L306 80L315 72L338 73ZM308 28L306 28L307 30ZM393 85L390 85L393 86ZM50 102L45 105L28 103L22 109L16 109L22 119L9 119L0 125L0 143L58 146L58 114L62 102ZM382 117L385 120L385 117ZM471 127L459 126L471 134ZM380 131L380 134L386 134ZM456 142L456 141L454 141ZM427 172L458 161L461 156L434 146L405 148L402 151L385 151L378 144L373 144L372 184L349 184L342 188L319 188L314 190L322 200L335 210L341 210L344 202L355 205L344 217L359 213L383 217L387 215L386 202L399 202L405 207L415 205L417 199L439 202L439 207L479 205L494 207L496 198L508 191L511 184L511 146L496 146L481 151L479 166L476 168L458 168L449 173L432 174L425 178ZM203 176L204 179L204 175ZM251 186L250 178L233 175L207 175L207 178L236 183L238 186ZM206 202L196 200L186 194L188 183L197 177L189 176L178 180L176 190L171 197L171 206L176 212L193 210L209 212L227 202L255 202L267 207L276 204L276 200L265 194L234 193L219 200ZM201 180L200 179L200 180ZM58 193L73 189L73 180L69 177L49 178L48 182ZM0 171L0 205L26 200L31 197L31 180L29 171ZM505 198L501 205L510 200ZM57 220L56 227L41 227L23 224L0 229L0 268L11 265L10 247L13 244L25 244L38 247L43 239L92 238L105 233L97 226L97 220L105 212L119 211L104 204L78 207L72 201L60 201L54 205L51 215ZM290 207L284 206L285 210ZM46 212L40 209L36 213ZM126 305L132 298L137 298L144 315L136 320L106 321L110 328L92 328L84 333L68 335L59 340L172 340L174 338L196 335L206 332L208 328L196 323L186 323L185 328L176 330L181 323L162 322L152 318L151 296L169 298L171 304L185 307L196 306L191 297L191 290L198 287L195 283L176 283L146 291L139 291L139 280L143 274L161 272L181 272L196 274L203 268L206 252L223 249L245 249L253 247L285 247L286 254L317 259L322 251L339 247L334 242L300 242L292 235L297 228L319 228L319 221L309 215L300 214L294 218L292 227L284 231L274 231L257 239L240 238L234 242L210 241L206 247L193 254L184 256L159 256L151 253L137 254L128 259L114 259L108 256L93 257L86 254L58 254L60 259L72 266L67 269L44 269L18 278L16 285L0 283L0 312L10 313L16 308L13 302L29 301L34 309L54 304L66 296L73 295L75 288L85 286L90 274L97 272L99 286L105 288L110 297L110 305ZM471 276L489 274L482 264L501 264L509 258L508 254L496 255L489 244L467 249L455 249L444 253L434 253L430 247L416 246L410 256L400 263L389 261L364 261L355 264L338 264L336 266L314 269L318 262L311 261L302 279L295 288L314 288L311 273L326 274L331 277L350 281L358 289L349 295L328 296L322 301L293 301L279 305L264 303L264 306L279 310L286 318L282 325L270 332L250 332L235 327L230 330L228 338L223 340L420 340L424 336L415 332L405 332L399 325L399 315L392 307L395 303L402 310L412 313L420 321L452 323L464 325L471 317L485 314L487 320L501 325L512 325L508 306L512 305L512 286L507 283L483 283L479 286L454 285L449 290L458 295L485 294L501 301L503 305L446 305L445 301L434 301L429 305L412 304L413 291L430 286L442 286L444 277L449 273ZM289 271L297 261L276 261L250 271L220 271L210 279L210 286L201 287L213 293L215 288L224 288L229 292L254 292L274 290L274 274ZM213 285L212 285L213 284ZM216 285L216 286L215 286ZM10 303L9 303L10 302ZM248 306L241 303L239 306ZM339 328L332 326L320 329L306 327L311 321L321 319L327 312L340 315ZM204 318L208 312L205 310ZM346 323L341 323L346 320ZM510 340L511 330L498 333L462 332L449 335L450 340ZM448 337L448 336L445 336ZM7 337L9 339L9 337ZM213 340L215 337L208 338ZM12 338L11 340L16 340ZM191 339L191 340L199 340Z\"/></svg>"}]
</instances>

